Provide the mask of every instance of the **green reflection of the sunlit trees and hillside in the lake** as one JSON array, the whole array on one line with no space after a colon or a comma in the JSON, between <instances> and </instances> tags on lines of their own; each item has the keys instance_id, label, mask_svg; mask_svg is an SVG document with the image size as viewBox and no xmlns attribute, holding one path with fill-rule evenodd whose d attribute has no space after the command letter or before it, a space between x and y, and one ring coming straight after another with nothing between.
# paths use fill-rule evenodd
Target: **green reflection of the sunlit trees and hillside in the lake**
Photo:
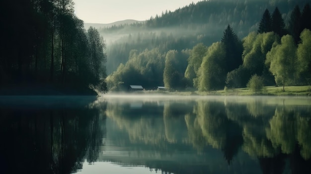
<instances>
[{"instance_id":1,"label":"green reflection of the sunlit trees and hillside in the lake","mask_svg":"<svg viewBox=\"0 0 311 174\"><path fill-rule=\"evenodd\" d=\"M148 99L139 108L126 107L133 99L109 100L111 144L126 144L131 155L102 159L136 154L137 165L180 174L311 172L310 98Z\"/></svg>"}]
</instances>

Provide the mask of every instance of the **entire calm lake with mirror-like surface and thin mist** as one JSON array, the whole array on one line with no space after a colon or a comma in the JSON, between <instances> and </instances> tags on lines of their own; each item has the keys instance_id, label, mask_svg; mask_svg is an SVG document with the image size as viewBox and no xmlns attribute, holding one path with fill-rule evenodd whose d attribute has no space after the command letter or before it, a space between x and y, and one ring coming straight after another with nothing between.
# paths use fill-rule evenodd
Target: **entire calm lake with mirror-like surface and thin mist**
<instances>
[{"instance_id":1,"label":"entire calm lake with mirror-like surface and thin mist","mask_svg":"<svg viewBox=\"0 0 311 174\"><path fill-rule=\"evenodd\" d=\"M0 97L1 174L310 174L310 97Z\"/></svg>"}]
</instances>

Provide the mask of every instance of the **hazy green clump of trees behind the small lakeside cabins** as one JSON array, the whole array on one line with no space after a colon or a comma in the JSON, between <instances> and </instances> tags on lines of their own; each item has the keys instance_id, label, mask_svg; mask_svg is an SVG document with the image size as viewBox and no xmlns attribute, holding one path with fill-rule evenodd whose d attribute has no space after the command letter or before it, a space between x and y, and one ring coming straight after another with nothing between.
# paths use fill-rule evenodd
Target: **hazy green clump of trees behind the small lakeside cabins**
<instances>
[{"instance_id":1,"label":"hazy green clump of trees behind the small lakeside cabins","mask_svg":"<svg viewBox=\"0 0 311 174\"><path fill-rule=\"evenodd\" d=\"M145 89L162 86L164 55L158 49L146 49L142 53L132 50L128 62L120 64L116 71L107 76L108 89L111 91L127 90L129 85L142 85Z\"/></svg>"}]
</instances>

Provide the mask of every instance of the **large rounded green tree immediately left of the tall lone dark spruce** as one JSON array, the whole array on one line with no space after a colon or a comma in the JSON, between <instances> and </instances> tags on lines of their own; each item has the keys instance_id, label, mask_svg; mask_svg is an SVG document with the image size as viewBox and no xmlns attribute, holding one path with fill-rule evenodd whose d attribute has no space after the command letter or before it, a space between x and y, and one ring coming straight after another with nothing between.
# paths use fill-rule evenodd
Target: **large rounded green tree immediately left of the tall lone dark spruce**
<instances>
[{"instance_id":1,"label":"large rounded green tree immediately left of the tall lone dark spruce","mask_svg":"<svg viewBox=\"0 0 311 174\"><path fill-rule=\"evenodd\" d=\"M217 42L208 48L198 70L197 87L199 91L211 91L225 86L225 72L222 67L225 61L225 48L223 43ZM195 85L195 84L194 84Z\"/></svg>"}]
</instances>

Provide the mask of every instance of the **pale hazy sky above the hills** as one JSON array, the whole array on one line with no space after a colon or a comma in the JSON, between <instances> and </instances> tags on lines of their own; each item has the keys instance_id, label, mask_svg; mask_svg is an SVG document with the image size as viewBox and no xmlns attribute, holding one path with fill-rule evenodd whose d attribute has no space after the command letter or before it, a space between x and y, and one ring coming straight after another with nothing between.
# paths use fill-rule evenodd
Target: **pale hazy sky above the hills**
<instances>
[{"instance_id":1,"label":"pale hazy sky above the hills","mask_svg":"<svg viewBox=\"0 0 311 174\"><path fill-rule=\"evenodd\" d=\"M78 18L86 23L112 23L119 20L146 20L165 10L174 11L200 0L74 0Z\"/></svg>"}]
</instances>

